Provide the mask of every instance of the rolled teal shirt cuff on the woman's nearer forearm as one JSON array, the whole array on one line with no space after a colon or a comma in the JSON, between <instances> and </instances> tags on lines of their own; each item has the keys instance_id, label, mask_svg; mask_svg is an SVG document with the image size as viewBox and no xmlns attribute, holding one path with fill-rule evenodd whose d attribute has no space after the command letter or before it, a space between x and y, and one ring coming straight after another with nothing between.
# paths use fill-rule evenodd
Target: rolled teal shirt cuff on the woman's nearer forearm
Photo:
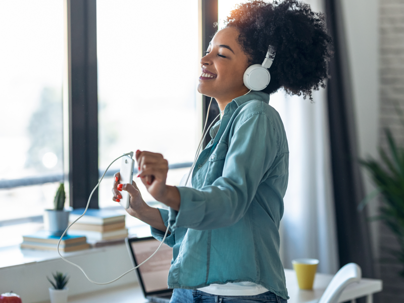
<instances>
[{"instance_id":1,"label":"rolled teal shirt cuff on the woman's nearer forearm","mask_svg":"<svg viewBox=\"0 0 404 303\"><path fill-rule=\"evenodd\" d=\"M206 198L203 191L190 187L177 187L180 193L180 209L169 209L170 227L175 230L177 227L194 228L204 219Z\"/></svg>"}]
</instances>

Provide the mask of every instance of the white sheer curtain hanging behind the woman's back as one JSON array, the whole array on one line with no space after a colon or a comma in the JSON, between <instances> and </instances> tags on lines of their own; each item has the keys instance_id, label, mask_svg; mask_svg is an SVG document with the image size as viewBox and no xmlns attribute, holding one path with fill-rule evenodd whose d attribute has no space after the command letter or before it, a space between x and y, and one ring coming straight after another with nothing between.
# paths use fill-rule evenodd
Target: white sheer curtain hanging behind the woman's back
<instances>
[{"instance_id":1,"label":"white sheer curtain hanging behind the woman's back","mask_svg":"<svg viewBox=\"0 0 404 303\"><path fill-rule=\"evenodd\" d=\"M281 259L292 268L296 258L319 259L318 272L335 274L338 249L335 225L326 89L314 103L284 91L270 105L282 117L289 143L289 182L281 220Z\"/></svg>"}]
</instances>

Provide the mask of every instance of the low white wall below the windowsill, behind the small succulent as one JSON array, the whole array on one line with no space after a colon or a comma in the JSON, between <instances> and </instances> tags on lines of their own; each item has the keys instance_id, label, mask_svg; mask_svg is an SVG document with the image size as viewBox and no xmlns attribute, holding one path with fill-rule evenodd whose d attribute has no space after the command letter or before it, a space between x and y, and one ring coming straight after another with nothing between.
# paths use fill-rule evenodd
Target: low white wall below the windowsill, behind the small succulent
<instances>
[{"instance_id":1,"label":"low white wall below the windowsill, behind the small succulent","mask_svg":"<svg viewBox=\"0 0 404 303\"><path fill-rule=\"evenodd\" d=\"M83 250L80 254L66 259L82 267L95 282L111 281L133 268L124 244ZM136 273L133 271L111 284L95 285L90 283L78 268L58 258L0 268L0 288L2 293L12 290L19 294L24 303L46 301L49 300L48 288L51 286L46 276L52 278L52 273L56 271L69 274L69 296L137 284Z\"/></svg>"}]
</instances>

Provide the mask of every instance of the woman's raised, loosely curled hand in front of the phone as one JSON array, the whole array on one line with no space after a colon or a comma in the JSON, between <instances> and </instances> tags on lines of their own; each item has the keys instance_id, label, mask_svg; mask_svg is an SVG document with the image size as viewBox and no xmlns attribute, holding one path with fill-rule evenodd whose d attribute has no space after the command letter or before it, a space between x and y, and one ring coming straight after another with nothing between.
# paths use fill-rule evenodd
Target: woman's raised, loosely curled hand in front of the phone
<instances>
[{"instance_id":1,"label":"woman's raised, loosely curled hand in front of the phone","mask_svg":"<svg viewBox=\"0 0 404 303\"><path fill-rule=\"evenodd\" d=\"M167 191L168 161L162 154L150 151L136 150L139 177L147 191L158 201L161 201Z\"/></svg>"}]
</instances>

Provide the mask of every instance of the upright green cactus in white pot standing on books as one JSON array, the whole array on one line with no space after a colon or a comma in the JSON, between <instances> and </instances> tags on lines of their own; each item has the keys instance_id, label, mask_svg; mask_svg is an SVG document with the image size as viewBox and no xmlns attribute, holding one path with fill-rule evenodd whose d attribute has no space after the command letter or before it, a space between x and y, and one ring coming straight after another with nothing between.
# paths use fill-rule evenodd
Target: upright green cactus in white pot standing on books
<instances>
[{"instance_id":1,"label":"upright green cactus in white pot standing on books","mask_svg":"<svg viewBox=\"0 0 404 303\"><path fill-rule=\"evenodd\" d=\"M54 199L54 209L45 210L43 214L43 224L45 229L54 236L61 236L69 224L70 211L65 210L65 186L60 183Z\"/></svg>"}]
</instances>

